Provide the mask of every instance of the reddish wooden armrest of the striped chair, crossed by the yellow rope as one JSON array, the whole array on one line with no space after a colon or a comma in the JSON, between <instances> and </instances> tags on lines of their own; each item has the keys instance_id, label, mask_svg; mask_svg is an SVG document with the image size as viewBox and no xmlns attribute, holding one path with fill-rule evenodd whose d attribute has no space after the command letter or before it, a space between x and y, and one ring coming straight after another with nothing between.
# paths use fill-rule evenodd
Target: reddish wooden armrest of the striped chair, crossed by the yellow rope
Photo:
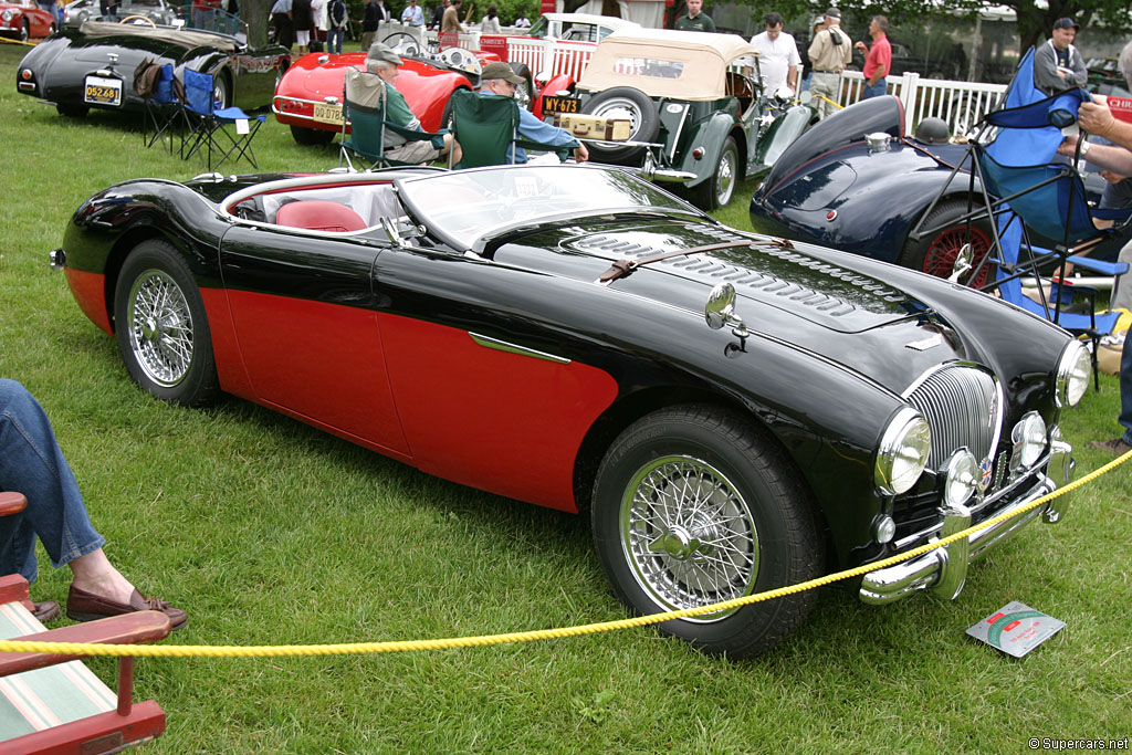
<instances>
[{"instance_id":1,"label":"reddish wooden armrest of the striped chair, crossed by the yellow rope","mask_svg":"<svg viewBox=\"0 0 1132 755\"><path fill-rule=\"evenodd\" d=\"M12 640L26 642L83 642L97 644L138 644L157 642L169 636L172 626L161 611L137 611L109 618L49 629ZM62 653L0 653L0 677L74 661L76 655Z\"/></svg>"}]
</instances>

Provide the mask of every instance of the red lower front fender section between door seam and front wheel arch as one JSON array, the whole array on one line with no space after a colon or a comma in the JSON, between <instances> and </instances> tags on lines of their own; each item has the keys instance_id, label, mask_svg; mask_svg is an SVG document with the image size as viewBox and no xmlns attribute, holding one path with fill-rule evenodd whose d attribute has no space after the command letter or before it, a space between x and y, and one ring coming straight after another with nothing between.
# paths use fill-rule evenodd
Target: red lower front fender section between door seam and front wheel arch
<instances>
[{"instance_id":1,"label":"red lower front fender section between door seam and front wheel arch","mask_svg":"<svg viewBox=\"0 0 1132 755\"><path fill-rule=\"evenodd\" d=\"M617 381L580 362L484 349L463 329L379 315L397 413L423 472L576 512L573 470Z\"/></svg>"}]
</instances>

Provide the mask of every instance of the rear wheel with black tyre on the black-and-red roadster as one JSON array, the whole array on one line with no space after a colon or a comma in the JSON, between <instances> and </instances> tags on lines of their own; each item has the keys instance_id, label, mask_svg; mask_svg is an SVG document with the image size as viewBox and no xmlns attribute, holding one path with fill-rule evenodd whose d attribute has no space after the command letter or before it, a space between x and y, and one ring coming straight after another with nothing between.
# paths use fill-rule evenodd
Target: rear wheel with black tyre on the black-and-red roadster
<instances>
[{"instance_id":1,"label":"rear wheel with black tyre on the black-and-red roadster","mask_svg":"<svg viewBox=\"0 0 1132 755\"><path fill-rule=\"evenodd\" d=\"M220 387L204 302L172 246L144 241L126 258L114 326L127 371L148 393L187 406L215 397Z\"/></svg>"}]
</instances>

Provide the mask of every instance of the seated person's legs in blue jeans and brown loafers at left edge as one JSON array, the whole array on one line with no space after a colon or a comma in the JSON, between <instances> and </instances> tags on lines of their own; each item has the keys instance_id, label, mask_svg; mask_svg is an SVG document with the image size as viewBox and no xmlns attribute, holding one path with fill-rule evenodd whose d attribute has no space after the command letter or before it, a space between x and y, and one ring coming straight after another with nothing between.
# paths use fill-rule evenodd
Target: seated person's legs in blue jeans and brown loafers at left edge
<instances>
[{"instance_id":1,"label":"seated person's legs in blue jeans and brown loafers at left edge","mask_svg":"<svg viewBox=\"0 0 1132 755\"><path fill-rule=\"evenodd\" d=\"M0 516L0 574L19 574L34 582L38 538L52 566L66 564L71 569L74 580L67 597L70 618L89 621L157 610L169 617L174 629L185 626L188 617L183 610L144 597L106 558L102 550L106 540L91 524L51 421L27 388L8 379L0 379L0 490L27 498L23 512ZM28 608L41 621L59 614L54 601Z\"/></svg>"}]
</instances>

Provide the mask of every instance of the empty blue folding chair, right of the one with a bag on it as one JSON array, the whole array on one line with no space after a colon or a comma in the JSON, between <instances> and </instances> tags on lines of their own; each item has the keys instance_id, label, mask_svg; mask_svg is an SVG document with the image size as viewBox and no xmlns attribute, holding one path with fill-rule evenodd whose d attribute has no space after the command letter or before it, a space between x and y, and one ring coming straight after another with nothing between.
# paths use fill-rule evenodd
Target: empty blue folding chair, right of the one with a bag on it
<instances>
[{"instance_id":1,"label":"empty blue folding chair, right of the one with a bag on it","mask_svg":"<svg viewBox=\"0 0 1132 755\"><path fill-rule=\"evenodd\" d=\"M241 157L259 169L251 140L266 120L263 115L252 118L239 108L217 108L213 77L188 68L181 71L185 96L181 112L189 130L181 141L181 157L189 160L198 152L205 156L206 170L220 168L231 158ZM220 155L213 160L213 155Z\"/></svg>"}]
</instances>

